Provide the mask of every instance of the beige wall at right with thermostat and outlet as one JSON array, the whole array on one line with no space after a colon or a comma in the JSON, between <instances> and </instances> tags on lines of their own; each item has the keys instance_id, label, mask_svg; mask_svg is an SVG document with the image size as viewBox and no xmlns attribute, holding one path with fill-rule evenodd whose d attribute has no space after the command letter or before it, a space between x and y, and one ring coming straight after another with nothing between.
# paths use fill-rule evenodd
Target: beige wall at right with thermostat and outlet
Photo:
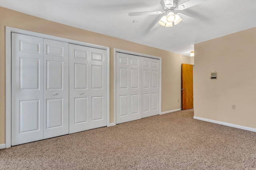
<instances>
[{"instance_id":1,"label":"beige wall at right with thermostat and outlet","mask_svg":"<svg viewBox=\"0 0 256 170\"><path fill-rule=\"evenodd\" d=\"M256 27L196 44L194 61L194 116L256 128Z\"/></svg>"}]
</instances>

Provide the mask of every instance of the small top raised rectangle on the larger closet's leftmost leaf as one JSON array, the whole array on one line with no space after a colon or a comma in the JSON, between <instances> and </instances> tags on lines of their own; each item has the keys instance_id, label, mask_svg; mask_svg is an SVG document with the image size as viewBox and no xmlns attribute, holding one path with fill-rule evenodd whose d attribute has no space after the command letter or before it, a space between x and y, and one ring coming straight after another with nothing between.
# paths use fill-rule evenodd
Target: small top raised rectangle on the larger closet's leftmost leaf
<instances>
[{"instance_id":1,"label":"small top raised rectangle on the larger closet's leftmost leaf","mask_svg":"<svg viewBox=\"0 0 256 170\"><path fill-rule=\"evenodd\" d=\"M40 43L20 40L20 51L40 54Z\"/></svg>"}]
</instances>

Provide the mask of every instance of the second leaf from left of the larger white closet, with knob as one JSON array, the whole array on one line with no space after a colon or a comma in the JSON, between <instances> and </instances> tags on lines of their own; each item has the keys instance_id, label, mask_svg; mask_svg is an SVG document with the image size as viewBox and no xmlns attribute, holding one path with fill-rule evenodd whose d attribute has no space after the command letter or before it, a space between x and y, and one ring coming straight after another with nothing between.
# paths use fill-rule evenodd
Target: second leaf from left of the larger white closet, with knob
<instances>
[{"instance_id":1,"label":"second leaf from left of the larger white closet, with knob","mask_svg":"<svg viewBox=\"0 0 256 170\"><path fill-rule=\"evenodd\" d=\"M68 134L68 43L44 39L44 139Z\"/></svg>"}]
</instances>

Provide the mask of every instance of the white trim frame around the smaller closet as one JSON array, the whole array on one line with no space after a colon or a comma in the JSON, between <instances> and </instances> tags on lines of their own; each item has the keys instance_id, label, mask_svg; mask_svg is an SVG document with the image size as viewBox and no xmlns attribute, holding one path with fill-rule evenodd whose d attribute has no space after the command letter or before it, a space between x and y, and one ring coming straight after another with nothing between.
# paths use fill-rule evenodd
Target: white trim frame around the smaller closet
<instances>
[{"instance_id":1,"label":"white trim frame around the smaller closet","mask_svg":"<svg viewBox=\"0 0 256 170\"><path fill-rule=\"evenodd\" d=\"M122 50L122 49L116 49L114 48L114 123L111 123L111 125L116 125L116 52L120 52L120 53L126 53L126 54L130 54L130 55L137 55L139 57L148 57L148 58L152 58L152 59L159 59L160 60L160 77L159 77L159 82L160 82L160 86L159 86L159 114L161 115L161 106L162 106L162 58L161 57L156 57L153 55L146 55L146 54L142 54L142 53L136 53L136 52L132 52L132 51L126 51L126 50Z\"/></svg>"}]
</instances>

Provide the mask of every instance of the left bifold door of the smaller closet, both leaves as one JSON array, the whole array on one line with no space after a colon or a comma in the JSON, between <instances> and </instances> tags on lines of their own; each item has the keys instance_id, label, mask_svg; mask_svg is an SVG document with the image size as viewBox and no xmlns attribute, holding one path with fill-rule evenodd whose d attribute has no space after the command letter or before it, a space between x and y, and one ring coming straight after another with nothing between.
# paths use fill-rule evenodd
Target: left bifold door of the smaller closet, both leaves
<instances>
[{"instance_id":1,"label":"left bifold door of the smaller closet, both leaves","mask_svg":"<svg viewBox=\"0 0 256 170\"><path fill-rule=\"evenodd\" d=\"M116 123L140 119L140 57L117 52L116 68Z\"/></svg>"}]
</instances>

